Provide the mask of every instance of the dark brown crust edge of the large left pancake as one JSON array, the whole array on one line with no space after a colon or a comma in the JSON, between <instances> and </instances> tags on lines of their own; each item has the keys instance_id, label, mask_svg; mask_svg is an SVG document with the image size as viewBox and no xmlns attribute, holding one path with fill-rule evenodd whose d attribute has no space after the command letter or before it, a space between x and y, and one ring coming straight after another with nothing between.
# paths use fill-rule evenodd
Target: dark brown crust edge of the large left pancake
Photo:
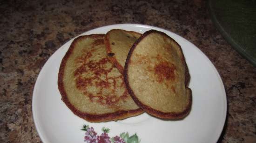
<instances>
[{"instance_id":1,"label":"dark brown crust edge of the large left pancake","mask_svg":"<svg viewBox=\"0 0 256 143\"><path fill-rule=\"evenodd\" d=\"M142 109L136 109L136 110L128 110L128 111L118 111L118 112L113 112L113 113L106 113L106 114L89 114L86 112L81 112L78 111L67 99L67 93L65 91L64 85L63 85L63 75L64 75L64 69L65 65L67 63L68 57L72 54L74 50L74 45L81 39L85 39L87 37L93 37L93 38L98 38L98 37L104 37L104 34L92 34L92 35L87 35L87 36L80 36L74 39L72 44L70 45L69 49L67 50L66 55L63 57L61 61L61 66L59 70L59 75L58 75L58 88L61 93L62 101L67 105L67 107L77 116L80 118L83 118L89 122L106 122L106 121L112 121L112 120L118 120L118 119L124 119L128 118L131 116L136 116L139 115L143 112Z\"/></svg>"}]
</instances>

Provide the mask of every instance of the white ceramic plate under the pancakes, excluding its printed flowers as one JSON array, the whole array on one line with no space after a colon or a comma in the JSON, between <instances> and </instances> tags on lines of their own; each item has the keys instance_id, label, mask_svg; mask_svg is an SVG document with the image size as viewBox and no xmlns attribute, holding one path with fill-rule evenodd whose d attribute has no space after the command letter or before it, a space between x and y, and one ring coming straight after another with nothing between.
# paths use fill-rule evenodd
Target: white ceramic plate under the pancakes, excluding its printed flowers
<instances>
[{"instance_id":1,"label":"white ceramic plate under the pancakes, excluding its printed flowers","mask_svg":"<svg viewBox=\"0 0 256 143\"><path fill-rule=\"evenodd\" d=\"M61 101L57 78L61 59L74 39L61 46L45 63L33 92L33 118L44 143L85 143L83 124L101 135L102 127L110 129L109 137L122 132L137 134L141 143L216 143L226 118L227 101L224 86L216 68L201 50L186 39L148 25L109 25L87 31L82 35L106 33L124 29L144 33L150 29L162 31L182 47L189 67L193 103L190 114L182 120L161 120L143 113L137 117L116 122L89 123L74 115Z\"/></svg>"}]
</instances>

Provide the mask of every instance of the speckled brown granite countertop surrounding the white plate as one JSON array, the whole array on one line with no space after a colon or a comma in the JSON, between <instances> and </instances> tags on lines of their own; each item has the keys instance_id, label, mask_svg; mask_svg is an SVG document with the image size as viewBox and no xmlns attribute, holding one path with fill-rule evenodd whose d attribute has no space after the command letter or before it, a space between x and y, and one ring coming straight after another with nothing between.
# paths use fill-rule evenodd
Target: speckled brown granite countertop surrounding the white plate
<instances>
[{"instance_id":1,"label":"speckled brown granite countertop surrounding the white plate","mask_svg":"<svg viewBox=\"0 0 256 143\"><path fill-rule=\"evenodd\" d=\"M122 23L167 29L202 50L227 93L227 119L218 142L256 143L256 67L216 30L205 1L6 0L0 13L0 143L41 142L31 104L44 63L69 39Z\"/></svg>"}]
</instances>

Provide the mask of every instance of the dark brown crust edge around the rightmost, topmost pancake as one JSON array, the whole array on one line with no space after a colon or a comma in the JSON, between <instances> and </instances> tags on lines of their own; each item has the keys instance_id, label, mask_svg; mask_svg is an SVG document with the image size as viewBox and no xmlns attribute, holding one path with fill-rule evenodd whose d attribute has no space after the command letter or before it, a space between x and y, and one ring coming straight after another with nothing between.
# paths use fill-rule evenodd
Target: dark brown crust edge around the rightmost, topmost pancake
<instances>
[{"instance_id":1,"label":"dark brown crust edge around the rightmost, topmost pancake","mask_svg":"<svg viewBox=\"0 0 256 143\"><path fill-rule=\"evenodd\" d=\"M189 114L189 111L191 110L191 105L192 105L192 92L191 92L191 89L188 88L187 86L189 85L189 80L190 80L190 75L189 75L189 70L188 70L188 67L187 67L187 64L186 64L186 61L185 61L185 58L184 58L184 55L183 55L183 52L182 52L182 62L184 63L184 66L185 66L185 86L187 89L189 89L189 103L186 107L186 109L183 111L183 112L161 112L161 111L158 111L158 110L155 110L153 108L151 108L150 106L147 106L145 104L143 104L134 94L133 90L131 89L130 85L129 85L129 81L128 81L128 66L129 66L129 62L130 62L130 58L133 54L133 51L135 50L135 47L137 46L137 44L139 44L141 42L141 40L148 36L148 34L150 33L153 33L153 32L156 32L156 33L160 33L160 34L163 34L164 36L166 37L169 37L168 35L166 35L165 33L163 32L160 32L160 31L155 31L155 30L149 30L149 31L146 31L134 44L133 46L131 47L129 53L128 53L128 57L126 59L126 62L125 62L125 67L124 67L124 81L125 81L125 84L126 84L126 88L128 89L128 93L132 96L132 98L134 99L135 103L141 107L145 112L148 112L149 114L151 115L154 115L156 117L159 117L159 118L166 118L166 119L171 119L171 118L184 118L185 116L187 116ZM172 38L171 38L172 39ZM178 44L174 39L172 39L176 44ZM179 44L178 44L179 45ZM179 45L180 49L181 49L181 46ZM182 50L182 49L181 49Z\"/></svg>"}]
</instances>

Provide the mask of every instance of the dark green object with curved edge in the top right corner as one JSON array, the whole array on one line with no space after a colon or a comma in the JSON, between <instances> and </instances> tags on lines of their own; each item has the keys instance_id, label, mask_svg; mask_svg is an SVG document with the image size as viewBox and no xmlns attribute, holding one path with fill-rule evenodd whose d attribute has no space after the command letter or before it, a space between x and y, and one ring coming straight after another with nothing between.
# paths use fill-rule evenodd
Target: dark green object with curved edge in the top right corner
<instances>
[{"instance_id":1,"label":"dark green object with curved edge in the top right corner","mask_svg":"<svg viewBox=\"0 0 256 143\"><path fill-rule=\"evenodd\" d=\"M208 10L222 36L256 66L256 0L208 0Z\"/></svg>"}]
</instances>

